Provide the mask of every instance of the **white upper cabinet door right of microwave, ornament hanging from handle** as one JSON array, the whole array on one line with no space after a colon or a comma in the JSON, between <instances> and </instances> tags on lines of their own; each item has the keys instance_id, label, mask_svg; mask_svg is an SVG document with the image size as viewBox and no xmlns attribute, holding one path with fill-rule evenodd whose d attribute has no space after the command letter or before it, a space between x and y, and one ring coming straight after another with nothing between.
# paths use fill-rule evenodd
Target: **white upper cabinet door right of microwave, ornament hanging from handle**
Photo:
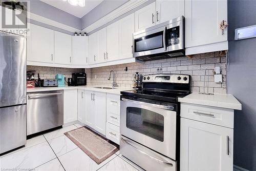
<instances>
[{"instance_id":1,"label":"white upper cabinet door right of microwave, ornament hanging from handle","mask_svg":"<svg viewBox=\"0 0 256 171\"><path fill-rule=\"evenodd\" d=\"M227 0L185 1L185 47L227 41L227 29L219 24L227 21Z\"/></svg>"}]
</instances>

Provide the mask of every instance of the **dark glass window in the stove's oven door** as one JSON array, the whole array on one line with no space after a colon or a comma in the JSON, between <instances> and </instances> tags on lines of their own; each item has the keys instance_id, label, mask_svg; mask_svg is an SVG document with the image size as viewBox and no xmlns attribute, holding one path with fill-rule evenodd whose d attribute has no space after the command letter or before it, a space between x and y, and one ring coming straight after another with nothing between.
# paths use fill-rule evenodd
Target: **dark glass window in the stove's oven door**
<instances>
[{"instance_id":1,"label":"dark glass window in the stove's oven door","mask_svg":"<svg viewBox=\"0 0 256 171\"><path fill-rule=\"evenodd\" d=\"M126 127L163 142L164 117L138 107L126 108Z\"/></svg>"}]
</instances>

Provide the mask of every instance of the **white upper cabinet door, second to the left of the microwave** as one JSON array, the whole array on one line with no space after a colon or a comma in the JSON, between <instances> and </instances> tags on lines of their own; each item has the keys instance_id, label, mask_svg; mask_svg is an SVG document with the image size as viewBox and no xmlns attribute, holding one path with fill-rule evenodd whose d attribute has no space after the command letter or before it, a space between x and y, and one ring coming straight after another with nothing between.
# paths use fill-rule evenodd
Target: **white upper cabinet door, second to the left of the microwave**
<instances>
[{"instance_id":1,"label":"white upper cabinet door, second to the left of the microwave","mask_svg":"<svg viewBox=\"0 0 256 171\"><path fill-rule=\"evenodd\" d=\"M115 22L106 28L106 60L119 59L119 22Z\"/></svg>"}]
</instances>

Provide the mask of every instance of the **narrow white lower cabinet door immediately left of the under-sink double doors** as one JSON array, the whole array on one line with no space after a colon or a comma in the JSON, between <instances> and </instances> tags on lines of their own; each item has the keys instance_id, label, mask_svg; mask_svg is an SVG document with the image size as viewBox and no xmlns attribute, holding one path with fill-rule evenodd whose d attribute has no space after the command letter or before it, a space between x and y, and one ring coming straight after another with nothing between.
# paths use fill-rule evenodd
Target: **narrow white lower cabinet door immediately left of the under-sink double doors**
<instances>
[{"instance_id":1,"label":"narrow white lower cabinet door immediately left of the under-sink double doors","mask_svg":"<svg viewBox=\"0 0 256 171\"><path fill-rule=\"evenodd\" d=\"M86 94L84 90L78 90L77 94L77 120L85 124L86 119Z\"/></svg>"}]
</instances>

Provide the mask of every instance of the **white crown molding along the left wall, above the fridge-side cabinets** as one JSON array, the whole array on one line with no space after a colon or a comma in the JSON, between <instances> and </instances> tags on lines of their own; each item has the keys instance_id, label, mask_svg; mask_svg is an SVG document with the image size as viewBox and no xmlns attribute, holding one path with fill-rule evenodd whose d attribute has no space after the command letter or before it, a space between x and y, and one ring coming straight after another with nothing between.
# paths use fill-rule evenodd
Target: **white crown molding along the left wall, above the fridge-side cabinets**
<instances>
[{"instance_id":1,"label":"white crown molding along the left wall, above the fridge-side cabinets","mask_svg":"<svg viewBox=\"0 0 256 171\"><path fill-rule=\"evenodd\" d=\"M34 14L32 12L28 12L28 18L31 19L31 20L35 20L37 22L40 22L40 23L44 23L44 24L47 24L47 25L50 25L50 26L53 26L53 27L57 27L59 29L67 30L69 32L73 32L73 33L74 32L81 32L80 29L68 26L66 24L56 22L54 20L51 20L51 19L46 18L44 16Z\"/></svg>"}]
</instances>

